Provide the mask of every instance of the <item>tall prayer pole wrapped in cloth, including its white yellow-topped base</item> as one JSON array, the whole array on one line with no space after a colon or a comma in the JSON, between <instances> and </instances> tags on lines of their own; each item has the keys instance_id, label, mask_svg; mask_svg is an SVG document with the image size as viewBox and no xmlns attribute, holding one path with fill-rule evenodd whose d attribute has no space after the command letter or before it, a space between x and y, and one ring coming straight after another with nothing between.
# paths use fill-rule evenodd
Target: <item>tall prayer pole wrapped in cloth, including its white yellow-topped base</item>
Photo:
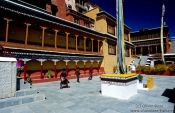
<instances>
[{"instance_id":1,"label":"tall prayer pole wrapped in cloth, including its white yellow-topped base","mask_svg":"<svg viewBox=\"0 0 175 113\"><path fill-rule=\"evenodd\" d=\"M101 94L118 99L129 99L137 94L137 76L125 69L123 0L116 0L116 24L118 46L118 73L102 74Z\"/></svg>"}]
</instances>

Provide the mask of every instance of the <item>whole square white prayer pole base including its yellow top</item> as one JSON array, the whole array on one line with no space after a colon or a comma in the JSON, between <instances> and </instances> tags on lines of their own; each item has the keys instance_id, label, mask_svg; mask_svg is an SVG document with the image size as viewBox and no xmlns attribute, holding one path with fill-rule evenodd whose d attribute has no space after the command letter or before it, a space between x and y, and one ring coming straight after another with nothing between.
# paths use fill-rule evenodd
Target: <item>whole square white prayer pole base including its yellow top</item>
<instances>
[{"instance_id":1,"label":"whole square white prayer pole base including its yellow top","mask_svg":"<svg viewBox=\"0 0 175 113\"><path fill-rule=\"evenodd\" d=\"M128 100L130 97L137 94L136 74L110 75L111 74L104 74L101 76L101 92L103 96Z\"/></svg>"}]
</instances>

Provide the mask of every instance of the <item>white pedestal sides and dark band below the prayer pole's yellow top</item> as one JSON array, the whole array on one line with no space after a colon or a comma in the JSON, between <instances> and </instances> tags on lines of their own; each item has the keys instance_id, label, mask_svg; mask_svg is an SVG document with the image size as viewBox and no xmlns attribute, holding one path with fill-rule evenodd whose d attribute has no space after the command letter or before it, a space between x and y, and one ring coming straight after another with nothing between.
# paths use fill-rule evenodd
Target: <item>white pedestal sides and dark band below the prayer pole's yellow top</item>
<instances>
[{"instance_id":1,"label":"white pedestal sides and dark band below the prayer pole's yellow top","mask_svg":"<svg viewBox=\"0 0 175 113\"><path fill-rule=\"evenodd\" d=\"M101 92L104 96L127 100L137 94L137 80L112 78L112 81L101 81ZM111 78L110 78L111 80ZM119 80L119 81L118 81ZM122 82L121 82L122 81Z\"/></svg>"}]
</instances>

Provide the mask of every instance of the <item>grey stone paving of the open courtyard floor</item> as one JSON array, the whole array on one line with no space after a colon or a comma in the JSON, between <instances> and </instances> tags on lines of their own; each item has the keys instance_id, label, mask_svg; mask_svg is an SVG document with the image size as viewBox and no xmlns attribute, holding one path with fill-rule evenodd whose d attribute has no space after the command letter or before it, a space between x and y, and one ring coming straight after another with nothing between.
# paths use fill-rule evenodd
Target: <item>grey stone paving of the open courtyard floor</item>
<instances>
[{"instance_id":1,"label":"grey stone paving of the open courtyard floor","mask_svg":"<svg viewBox=\"0 0 175 113\"><path fill-rule=\"evenodd\" d=\"M173 113L174 104L161 95L165 89L175 88L175 77L154 78L153 90L138 91L129 100L102 96L99 77L92 81L82 78L80 83L70 80L68 89L59 89L59 81L34 84L33 89L46 95L45 101L3 108L0 113Z\"/></svg>"}]
</instances>

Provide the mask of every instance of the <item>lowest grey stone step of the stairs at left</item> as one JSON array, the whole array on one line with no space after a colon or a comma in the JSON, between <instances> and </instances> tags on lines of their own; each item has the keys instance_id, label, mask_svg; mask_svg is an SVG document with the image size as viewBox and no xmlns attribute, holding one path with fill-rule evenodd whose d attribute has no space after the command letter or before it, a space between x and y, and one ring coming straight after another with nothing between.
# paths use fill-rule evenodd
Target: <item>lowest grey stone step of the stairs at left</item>
<instances>
[{"instance_id":1,"label":"lowest grey stone step of the stairs at left","mask_svg":"<svg viewBox=\"0 0 175 113\"><path fill-rule=\"evenodd\" d=\"M46 99L44 94L32 94L27 96L11 97L0 100L0 109L30 102L43 101Z\"/></svg>"}]
</instances>

